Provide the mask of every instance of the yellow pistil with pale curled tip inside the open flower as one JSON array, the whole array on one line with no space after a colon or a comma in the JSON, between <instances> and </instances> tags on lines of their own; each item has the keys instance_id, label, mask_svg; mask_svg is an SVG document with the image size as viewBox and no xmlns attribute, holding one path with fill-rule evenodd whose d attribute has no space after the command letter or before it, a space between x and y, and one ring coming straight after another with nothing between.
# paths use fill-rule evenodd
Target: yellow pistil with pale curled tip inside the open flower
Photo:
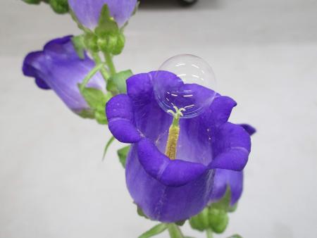
<instances>
[{"instance_id":1,"label":"yellow pistil with pale curled tip inside the open flower","mask_svg":"<svg viewBox=\"0 0 317 238\"><path fill-rule=\"evenodd\" d=\"M168 141L166 144L165 154L171 160L176 158L176 149L178 146L178 137L180 136L180 117L182 116L182 111L185 111L185 108L178 108L177 106L173 106L175 112L173 110L168 110L167 112L173 115L173 122L170 125L170 129L168 130Z\"/></svg>"}]
</instances>

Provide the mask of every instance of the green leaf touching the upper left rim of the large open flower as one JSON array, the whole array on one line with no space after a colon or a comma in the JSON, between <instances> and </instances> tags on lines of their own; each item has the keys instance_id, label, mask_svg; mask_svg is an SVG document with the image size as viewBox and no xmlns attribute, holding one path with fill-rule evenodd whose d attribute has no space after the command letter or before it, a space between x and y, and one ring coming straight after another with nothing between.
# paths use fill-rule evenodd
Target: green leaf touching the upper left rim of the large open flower
<instances>
[{"instance_id":1,"label":"green leaf touching the upper left rim of the large open flower","mask_svg":"<svg viewBox=\"0 0 317 238\"><path fill-rule=\"evenodd\" d=\"M107 81L107 90L115 94L124 94L127 92L126 80L132 76L131 70L121 71L112 75Z\"/></svg>"}]
</instances>

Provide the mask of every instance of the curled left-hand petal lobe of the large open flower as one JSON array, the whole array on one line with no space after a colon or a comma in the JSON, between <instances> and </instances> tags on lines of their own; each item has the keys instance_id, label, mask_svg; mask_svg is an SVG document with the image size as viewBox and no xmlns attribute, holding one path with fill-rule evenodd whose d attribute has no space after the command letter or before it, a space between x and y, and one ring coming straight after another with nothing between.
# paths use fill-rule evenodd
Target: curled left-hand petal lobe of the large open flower
<instances>
[{"instance_id":1,"label":"curled left-hand petal lobe of the large open flower","mask_svg":"<svg viewBox=\"0 0 317 238\"><path fill-rule=\"evenodd\" d=\"M133 120L132 102L128 95L118 94L106 104L108 127L116 139L123 143L135 143L142 137Z\"/></svg>"}]
</instances>

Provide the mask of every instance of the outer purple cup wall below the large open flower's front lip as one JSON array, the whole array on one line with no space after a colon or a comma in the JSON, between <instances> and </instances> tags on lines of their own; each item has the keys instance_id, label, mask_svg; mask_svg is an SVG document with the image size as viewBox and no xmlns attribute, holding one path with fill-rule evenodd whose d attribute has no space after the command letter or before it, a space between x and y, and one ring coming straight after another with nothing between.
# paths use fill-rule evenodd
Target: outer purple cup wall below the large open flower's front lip
<instances>
[{"instance_id":1,"label":"outer purple cup wall below the large open flower's front lip","mask_svg":"<svg viewBox=\"0 0 317 238\"><path fill-rule=\"evenodd\" d=\"M196 215L209 202L212 170L183 186L166 186L144 170L137 154L137 146L132 145L125 168L126 182L133 200L149 218L174 223Z\"/></svg>"}]
</instances>

